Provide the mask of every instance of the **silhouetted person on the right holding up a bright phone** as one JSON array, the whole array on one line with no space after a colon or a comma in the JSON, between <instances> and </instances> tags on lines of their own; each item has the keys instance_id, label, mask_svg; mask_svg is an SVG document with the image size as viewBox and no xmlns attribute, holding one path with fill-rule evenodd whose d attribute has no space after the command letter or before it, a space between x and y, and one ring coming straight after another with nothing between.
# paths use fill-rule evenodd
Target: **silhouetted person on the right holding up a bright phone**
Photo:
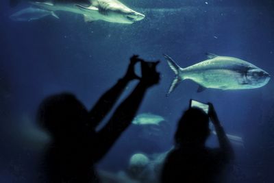
<instances>
[{"instance_id":1,"label":"silhouetted person on the right holding up a bright phone","mask_svg":"<svg viewBox=\"0 0 274 183\"><path fill-rule=\"evenodd\" d=\"M234 158L234 151L212 104L209 106L208 114L199 108L189 108L179 120L175 148L165 160L162 183L220 182L219 175ZM210 135L209 119L219 139L220 147L216 149L205 146Z\"/></svg>"}]
</instances>

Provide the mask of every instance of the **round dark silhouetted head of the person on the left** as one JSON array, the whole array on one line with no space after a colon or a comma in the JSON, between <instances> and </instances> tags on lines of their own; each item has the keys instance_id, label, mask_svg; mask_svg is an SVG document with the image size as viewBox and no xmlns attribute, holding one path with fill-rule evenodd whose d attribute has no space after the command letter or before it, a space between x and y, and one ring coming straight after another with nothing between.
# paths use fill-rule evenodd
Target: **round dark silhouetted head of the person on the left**
<instances>
[{"instance_id":1,"label":"round dark silhouetted head of the person on the left","mask_svg":"<svg viewBox=\"0 0 274 183\"><path fill-rule=\"evenodd\" d=\"M47 97L40 104L38 123L53 138L75 136L81 132L87 119L88 111L74 95L62 93Z\"/></svg>"}]
</instances>

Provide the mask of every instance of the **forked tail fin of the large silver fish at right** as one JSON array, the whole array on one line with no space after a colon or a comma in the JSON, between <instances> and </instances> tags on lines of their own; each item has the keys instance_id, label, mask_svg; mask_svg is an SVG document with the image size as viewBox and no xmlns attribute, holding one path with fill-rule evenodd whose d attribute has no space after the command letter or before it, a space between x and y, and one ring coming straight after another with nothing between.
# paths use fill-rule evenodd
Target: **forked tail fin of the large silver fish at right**
<instances>
[{"instance_id":1,"label":"forked tail fin of the large silver fish at right","mask_svg":"<svg viewBox=\"0 0 274 183\"><path fill-rule=\"evenodd\" d=\"M171 86L169 87L168 93L166 93L167 97L178 86L178 84L182 82L182 78L180 77L180 74L182 73L182 68L178 64L176 64L171 57L164 54L164 58L166 58L166 62L171 67L171 70L175 73L175 78L171 83Z\"/></svg>"}]
</instances>

